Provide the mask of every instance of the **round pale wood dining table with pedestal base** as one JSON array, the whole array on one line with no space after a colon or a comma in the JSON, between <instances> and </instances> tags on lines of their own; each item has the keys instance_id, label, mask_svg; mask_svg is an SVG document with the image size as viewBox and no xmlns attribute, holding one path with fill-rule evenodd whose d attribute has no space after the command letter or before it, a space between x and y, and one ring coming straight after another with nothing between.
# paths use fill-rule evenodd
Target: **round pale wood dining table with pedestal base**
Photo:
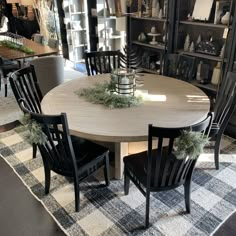
<instances>
[{"instance_id":1,"label":"round pale wood dining table with pedestal base","mask_svg":"<svg viewBox=\"0 0 236 236\"><path fill-rule=\"evenodd\" d=\"M61 84L41 103L44 114L67 114L72 135L114 144L118 179L123 175L123 157L130 153L129 143L146 141L148 124L191 126L205 119L210 109L207 95L190 83L154 74L141 74L138 79L142 86L137 86L137 91L144 101L137 107L111 109L76 94L82 88L109 81L110 74L84 76Z\"/></svg>"}]
</instances>

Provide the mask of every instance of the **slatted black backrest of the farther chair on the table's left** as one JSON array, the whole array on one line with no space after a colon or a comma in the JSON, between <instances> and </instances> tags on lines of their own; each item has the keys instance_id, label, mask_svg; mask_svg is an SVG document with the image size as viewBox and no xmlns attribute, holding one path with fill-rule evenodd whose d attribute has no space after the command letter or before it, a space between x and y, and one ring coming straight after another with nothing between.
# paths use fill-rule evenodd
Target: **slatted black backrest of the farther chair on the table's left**
<instances>
[{"instance_id":1,"label":"slatted black backrest of the farther chair on the table's left","mask_svg":"<svg viewBox=\"0 0 236 236\"><path fill-rule=\"evenodd\" d=\"M21 68L11 74L10 84L16 101L23 98L29 110L35 113L41 113L42 93L39 88L34 66L30 65Z\"/></svg>"}]
</instances>

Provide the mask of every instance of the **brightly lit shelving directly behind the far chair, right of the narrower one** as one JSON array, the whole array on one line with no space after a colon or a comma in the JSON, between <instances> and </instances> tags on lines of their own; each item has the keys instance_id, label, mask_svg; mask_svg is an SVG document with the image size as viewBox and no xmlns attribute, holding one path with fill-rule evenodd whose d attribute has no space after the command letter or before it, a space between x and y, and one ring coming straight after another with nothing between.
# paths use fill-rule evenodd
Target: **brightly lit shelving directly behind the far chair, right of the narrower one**
<instances>
[{"instance_id":1,"label":"brightly lit shelving directly behind the far chair, right of the narrower one","mask_svg":"<svg viewBox=\"0 0 236 236\"><path fill-rule=\"evenodd\" d=\"M90 51L122 50L125 45L125 30L116 27L114 1L108 0L109 12L105 0L87 0Z\"/></svg>"}]
</instances>

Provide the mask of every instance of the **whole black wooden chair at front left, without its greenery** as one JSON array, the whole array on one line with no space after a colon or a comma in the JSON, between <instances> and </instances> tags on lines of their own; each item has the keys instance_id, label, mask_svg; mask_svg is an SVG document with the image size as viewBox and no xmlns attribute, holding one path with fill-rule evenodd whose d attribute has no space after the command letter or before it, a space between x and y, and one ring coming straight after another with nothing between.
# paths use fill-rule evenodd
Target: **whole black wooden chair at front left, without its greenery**
<instances>
[{"instance_id":1,"label":"whole black wooden chair at front left, without its greenery","mask_svg":"<svg viewBox=\"0 0 236 236\"><path fill-rule=\"evenodd\" d=\"M43 115L27 109L27 103L20 100L21 109L42 127L47 137L45 143L38 143L45 174L45 194L49 193L51 171L72 177L74 181L75 211L80 208L80 183L104 167L106 186L110 183L109 150L90 141L72 143L65 113Z\"/></svg>"}]
</instances>

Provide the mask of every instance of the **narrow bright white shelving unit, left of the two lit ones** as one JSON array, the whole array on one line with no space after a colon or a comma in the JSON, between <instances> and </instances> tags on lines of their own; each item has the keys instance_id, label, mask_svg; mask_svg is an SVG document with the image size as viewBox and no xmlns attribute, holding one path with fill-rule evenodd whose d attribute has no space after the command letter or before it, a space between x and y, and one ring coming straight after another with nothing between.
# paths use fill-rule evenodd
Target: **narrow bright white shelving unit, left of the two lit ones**
<instances>
[{"instance_id":1,"label":"narrow bright white shelving unit, left of the two lit ones","mask_svg":"<svg viewBox=\"0 0 236 236\"><path fill-rule=\"evenodd\" d=\"M78 63L83 62L84 52L88 48L87 2L86 0L64 0L63 9L69 60L76 67Z\"/></svg>"}]
</instances>

